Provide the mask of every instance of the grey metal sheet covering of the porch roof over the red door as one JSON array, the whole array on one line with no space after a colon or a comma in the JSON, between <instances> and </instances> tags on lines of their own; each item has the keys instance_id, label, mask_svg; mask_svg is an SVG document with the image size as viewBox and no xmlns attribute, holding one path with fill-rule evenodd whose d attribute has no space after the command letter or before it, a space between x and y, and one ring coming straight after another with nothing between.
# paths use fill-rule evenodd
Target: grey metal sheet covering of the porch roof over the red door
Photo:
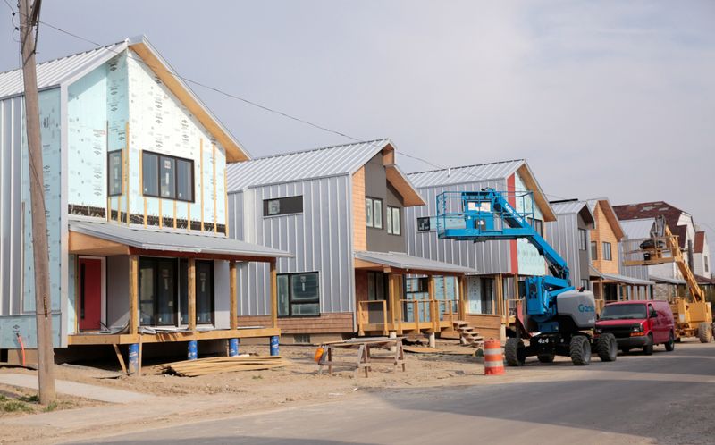
<instances>
[{"instance_id":1,"label":"grey metal sheet covering of the porch roof over the red door","mask_svg":"<svg viewBox=\"0 0 715 445\"><path fill-rule=\"evenodd\" d=\"M219 235L198 235L189 231L144 229L118 223L71 220L70 231L105 239L132 248L154 251L189 252L208 255L290 257L288 252L266 248Z\"/></svg>"}]
</instances>

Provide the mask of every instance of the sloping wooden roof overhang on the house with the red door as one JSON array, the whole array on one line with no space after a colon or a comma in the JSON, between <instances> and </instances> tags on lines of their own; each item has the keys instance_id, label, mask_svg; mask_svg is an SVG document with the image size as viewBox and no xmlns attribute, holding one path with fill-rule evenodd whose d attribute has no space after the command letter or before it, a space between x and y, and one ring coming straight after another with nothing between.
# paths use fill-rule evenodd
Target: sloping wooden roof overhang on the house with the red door
<instances>
[{"instance_id":1,"label":"sloping wooden roof overhang on the house with the red door","mask_svg":"<svg viewBox=\"0 0 715 445\"><path fill-rule=\"evenodd\" d=\"M248 159L250 159L250 155L240 146L239 141L236 140L229 130L223 126L223 123L209 111L208 107L191 91L191 88L181 80L172 66L159 55L147 38L144 36L130 38L128 43L130 49L142 58L147 67L149 67L151 71L154 71L156 77L164 82L166 88L169 88L174 96L179 98L189 112L197 118L198 122L201 122L201 124L206 127L206 130L214 136L216 141L222 145L226 150L227 162L234 163L248 161Z\"/></svg>"}]
</instances>

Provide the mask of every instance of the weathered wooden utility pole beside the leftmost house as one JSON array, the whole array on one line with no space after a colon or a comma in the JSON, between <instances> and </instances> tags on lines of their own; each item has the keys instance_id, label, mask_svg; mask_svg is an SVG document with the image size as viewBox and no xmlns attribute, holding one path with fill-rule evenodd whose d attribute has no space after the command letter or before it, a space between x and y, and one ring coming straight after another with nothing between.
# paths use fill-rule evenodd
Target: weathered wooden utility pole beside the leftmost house
<instances>
[{"instance_id":1,"label":"weathered wooden utility pole beside the leftmost house","mask_svg":"<svg viewBox=\"0 0 715 445\"><path fill-rule=\"evenodd\" d=\"M42 140L39 134L38 75L35 68L35 36L41 0L19 0L22 42L22 79L25 86L25 122L28 129L29 197L32 213L32 253L35 264L35 319L38 324L39 402L55 400L55 352L52 345L49 249L42 174Z\"/></svg>"}]
</instances>

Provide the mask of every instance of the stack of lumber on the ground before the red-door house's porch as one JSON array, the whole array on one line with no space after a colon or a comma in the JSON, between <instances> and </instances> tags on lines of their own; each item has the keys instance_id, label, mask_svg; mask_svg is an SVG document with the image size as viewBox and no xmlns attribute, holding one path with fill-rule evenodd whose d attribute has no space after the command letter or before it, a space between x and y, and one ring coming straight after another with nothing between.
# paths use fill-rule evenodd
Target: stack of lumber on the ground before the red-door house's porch
<instances>
[{"instance_id":1,"label":"stack of lumber on the ground before the red-door house's porch","mask_svg":"<svg viewBox=\"0 0 715 445\"><path fill-rule=\"evenodd\" d=\"M281 356L208 357L158 365L156 371L157 374L198 377L206 374L259 371L286 365L288 362Z\"/></svg>"}]
</instances>

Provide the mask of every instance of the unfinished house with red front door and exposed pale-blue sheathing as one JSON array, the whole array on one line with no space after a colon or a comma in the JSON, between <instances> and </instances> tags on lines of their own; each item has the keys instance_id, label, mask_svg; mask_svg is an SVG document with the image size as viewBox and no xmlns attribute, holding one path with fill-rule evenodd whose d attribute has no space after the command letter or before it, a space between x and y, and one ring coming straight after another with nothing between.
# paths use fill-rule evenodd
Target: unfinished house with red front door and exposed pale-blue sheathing
<instances>
[{"instance_id":1,"label":"unfinished house with red front door and exposed pale-blue sheathing","mask_svg":"<svg viewBox=\"0 0 715 445\"><path fill-rule=\"evenodd\" d=\"M278 335L239 331L230 298L236 261L289 255L226 236L226 163L248 153L147 39L39 63L38 88L55 347ZM37 344L23 111L21 72L1 73L0 349L12 350Z\"/></svg>"}]
</instances>

